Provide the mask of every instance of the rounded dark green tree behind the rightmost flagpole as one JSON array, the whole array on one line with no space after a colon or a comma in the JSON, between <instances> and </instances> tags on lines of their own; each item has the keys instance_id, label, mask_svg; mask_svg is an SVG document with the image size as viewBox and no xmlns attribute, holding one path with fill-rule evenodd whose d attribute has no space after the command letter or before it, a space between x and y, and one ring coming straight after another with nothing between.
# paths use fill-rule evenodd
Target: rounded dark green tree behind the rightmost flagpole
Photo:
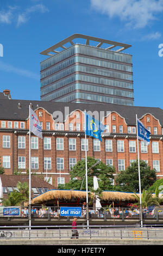
<instances>
[{"instance_id":1,"label":"rounded dark green tree behind the rightmost flagpole","mask_svg":"<svg viewBox=\"0 0 163 256\"><path fill-rule=\"evenodd\" d=\"M156 181L156 173L145 161L140 160L141 190L147 190ZM116 177L116 190L124 192L139 192L138 161L131 163Z\"/></svg>"}]
</instances>

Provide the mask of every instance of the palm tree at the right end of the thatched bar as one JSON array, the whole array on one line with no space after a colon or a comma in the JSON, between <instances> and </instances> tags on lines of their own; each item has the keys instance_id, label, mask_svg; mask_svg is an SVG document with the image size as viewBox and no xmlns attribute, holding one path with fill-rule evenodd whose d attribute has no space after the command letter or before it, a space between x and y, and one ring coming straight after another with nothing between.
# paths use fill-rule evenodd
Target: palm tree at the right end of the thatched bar
<instances>
[{"instance_id":1,"label":"palm tree at the right end of the thatched bar","mask_svg":"<svg viewBox=\"0 0 163 256\"><path fill-rule=\"evenodd\" d=\"M134 203L134 205L140 206L140 197L138 194L134 193L133 197L136 198L137 203ZM147 190L142 191L141 196L141 205L142 208L146 208L151 205L160 205L160 200L158 197L153 197L153 193Z\"/></svg>"}]
</instances>

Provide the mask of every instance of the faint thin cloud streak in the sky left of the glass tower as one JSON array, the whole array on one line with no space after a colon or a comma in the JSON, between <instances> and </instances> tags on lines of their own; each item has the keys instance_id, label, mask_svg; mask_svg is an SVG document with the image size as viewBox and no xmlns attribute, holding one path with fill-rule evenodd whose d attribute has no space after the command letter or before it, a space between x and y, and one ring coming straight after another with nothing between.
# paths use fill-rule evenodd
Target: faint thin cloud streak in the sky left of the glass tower
<instances>
[{"instance_id":1,"label":"faint thin cloud streak in the sky left of the glass tower","mask_svg":"<svg viewBox=\"0 0 163 256\"><path fill-rule=\"evenodd\" d=\"M35 74L32 71L26 70L26 69L20 69L20 68L16 68L15 66L12 66L10 64L5 64L4 62L0 61L0 70L4 71L4 72L11 72L20 76L25 76L28 78L32 78L34 80L39 81L40 80L40 76Z\"/></svg>"}]
</instances>

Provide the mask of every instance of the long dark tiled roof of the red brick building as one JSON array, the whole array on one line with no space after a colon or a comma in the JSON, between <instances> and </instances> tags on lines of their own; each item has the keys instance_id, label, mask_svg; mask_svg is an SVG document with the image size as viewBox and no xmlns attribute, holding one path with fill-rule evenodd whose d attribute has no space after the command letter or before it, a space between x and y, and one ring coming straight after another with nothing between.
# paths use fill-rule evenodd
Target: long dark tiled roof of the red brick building
<instances>
[{"instance_id":1,"label":"long dark tiled roof of the red brick building","mask_svg":"<svg viewBox=\"0 0 163 256\"><path fill-rule=\"evenodd\" d=\"M18 108L20 103L21 108ZM121 117L125 118L128 125L136 125L137 118L142 118L145 114L152 114L160 121L163 126L163 110L159 107L139 107L139 106L123 106L116 104L89 104L89 103L68 103L68 102L52 102L52 101L30 101L30 100L0 100L0 119L8 120L26 120L29 116L29 105L32 103L33 110L38 107L44 108L48 113L53 114L54 111L60 111L65 117L65 107L69 108L69 113L76 109L81 111L103 111L105 116L107 112L117 112ZM99 115L100 116L100 115ZM63 120L60 120L63 121Z\"/></svg>"}]
</instances>

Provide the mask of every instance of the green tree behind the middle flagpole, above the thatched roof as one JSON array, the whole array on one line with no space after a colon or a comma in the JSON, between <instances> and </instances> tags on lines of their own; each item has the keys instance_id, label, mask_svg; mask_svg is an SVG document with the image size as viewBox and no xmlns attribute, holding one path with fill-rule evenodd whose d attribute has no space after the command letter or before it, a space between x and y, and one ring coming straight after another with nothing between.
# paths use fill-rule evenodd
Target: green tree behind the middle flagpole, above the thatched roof
<instances>
[{"instance_id":1,"label":"green tree behind the middle flagpole, above the thatched roof","mask_svg":"<svg viewBox=\"0 0 163 256\"><path fill-rule=\"evenodd\" d=\"M93 176L97 176L99 188L102 190L112 190L110 179L113 179L115 168L106 166L103 162L99 162L96 166L97 160L93 157L87 157L87 185L90 190L93 187ZM92 167L94 166L94 167ZM70 171L71 180L64 187L67 190L86 190L85 179L85 160L78 161L77 164Z\"/></svg>"}]
</instances>

